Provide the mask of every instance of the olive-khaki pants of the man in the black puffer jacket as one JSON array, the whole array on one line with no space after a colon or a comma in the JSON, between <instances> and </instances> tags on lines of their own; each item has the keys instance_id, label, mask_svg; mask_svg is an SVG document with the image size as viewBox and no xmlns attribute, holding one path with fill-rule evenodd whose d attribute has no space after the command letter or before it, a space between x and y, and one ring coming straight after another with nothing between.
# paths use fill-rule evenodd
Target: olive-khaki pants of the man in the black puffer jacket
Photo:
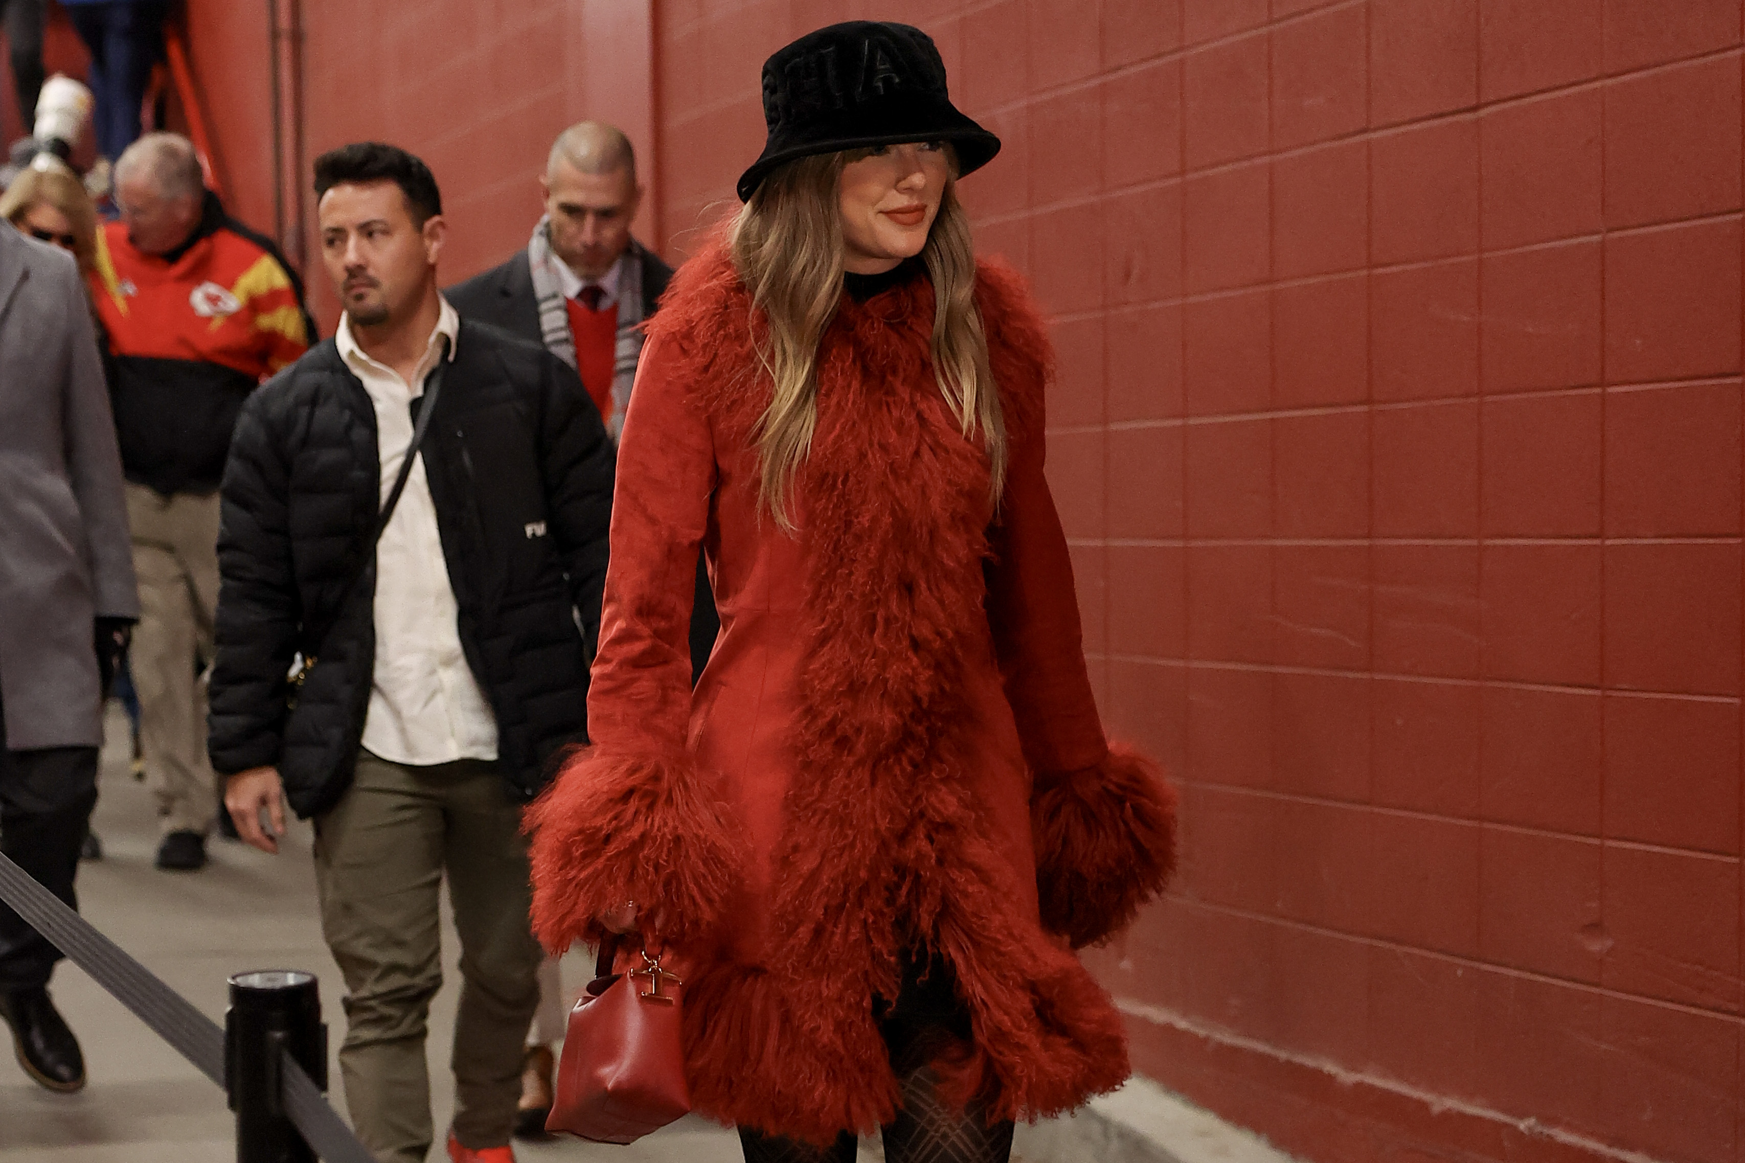
<instances>
[{"instance_id":1,"label":"olive-khaki pants of the man in the black puffer jacket","mask_svg":"<svg viewBox=\"0 0 1745 1163\"><path fill-rule=\"evenodd\" d=\"M382 1163L422 1163L433 1140L424 1036L441 985L443 870L461 935L454 1133L466 1147L497 1147L522 1093L543 957L527 921L520 809L496 764L407 767L363 752L351 788L316 818L316 888L346 975L346 1104Z\"/></svg>"}]
</instances>

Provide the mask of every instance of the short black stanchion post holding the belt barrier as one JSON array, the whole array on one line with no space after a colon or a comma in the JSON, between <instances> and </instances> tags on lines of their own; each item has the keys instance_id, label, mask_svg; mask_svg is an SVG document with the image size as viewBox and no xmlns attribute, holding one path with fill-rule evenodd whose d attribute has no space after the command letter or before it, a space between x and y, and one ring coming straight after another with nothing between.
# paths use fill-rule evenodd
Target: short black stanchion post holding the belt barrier
<instances>
[{"instance_id":1,"label":"short black stanchion post holding the belt barrier","mask_svg":"<svg viewBox=\"0 0 1745 1163\"><path fill-rule=\"evenodd\" d=\"M284 1111L284 1055L326 1090L326 1025L314 973L265 969L230 978L225 1088L236 1111L237 1163L316 1163Z\"/></svg>"}]
</instances>

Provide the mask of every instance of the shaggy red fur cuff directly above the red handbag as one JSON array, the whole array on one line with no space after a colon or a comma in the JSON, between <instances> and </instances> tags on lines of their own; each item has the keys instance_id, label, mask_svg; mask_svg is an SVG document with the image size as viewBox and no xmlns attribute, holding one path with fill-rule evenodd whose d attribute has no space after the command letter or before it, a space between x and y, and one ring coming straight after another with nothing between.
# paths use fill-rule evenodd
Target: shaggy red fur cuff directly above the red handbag
<instances>
[{"instance_id":1,"label":"shaggy red fur cuff directly above the red handbag","mask_svg":"<svg viewBox=\"0 0 1745 1163\"><path fill-rule=\"evenodd\" d=\"M695 947L722 915L738 846L689 758L581 748L527 809L532 924L562 952L599 942L600 917L635 901L646 936Z\"/></svg>"}]
</instances>

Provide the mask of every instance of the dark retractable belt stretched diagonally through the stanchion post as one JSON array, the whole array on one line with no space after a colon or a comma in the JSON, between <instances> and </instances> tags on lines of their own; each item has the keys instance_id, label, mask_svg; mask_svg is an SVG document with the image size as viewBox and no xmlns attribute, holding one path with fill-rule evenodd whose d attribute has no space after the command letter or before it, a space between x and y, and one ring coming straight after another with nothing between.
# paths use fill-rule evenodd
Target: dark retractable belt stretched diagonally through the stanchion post
<instances>
[{"instance_id":1,"label":"dark retractable belt stretched diagonally through the stanchion post","mask_svg":"<svg viewBox=\"0 0 1745 1163\"><path fill-rule=\"evenodd\" d=\"M54 893L37 884L3 853L0 853L0 900L49 938L120 1004L133 1010L201 1074L229 1090L225 1085L223 1030L218 1024L195 1010L187 997L164 985L150 969L129 957L120 945L103 936ZM326 1163L375 1163L375 1156L358 1142L344 1119L326 1104L304 1067L290 1053L281 1050L279 1055L281 1078L284 1079L284 1112L316 1154Z\"/></svg>"}]
</instances>

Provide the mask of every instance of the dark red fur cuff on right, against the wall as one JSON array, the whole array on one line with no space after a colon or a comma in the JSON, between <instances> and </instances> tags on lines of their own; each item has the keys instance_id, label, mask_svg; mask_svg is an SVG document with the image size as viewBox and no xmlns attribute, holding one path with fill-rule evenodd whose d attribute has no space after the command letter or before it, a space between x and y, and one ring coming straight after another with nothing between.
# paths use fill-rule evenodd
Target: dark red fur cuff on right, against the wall
<instances>
[{"instance_id":1,"label":"dark red fur cuff on right, against the wall","mask_svg":"<svg viewBox=\"0 0 1745 1163\"><path fill-rule=\"evenodd\" d=\"M1176 865L1176 792L1127 748L1096 767L1038 778L1030 828L1042 926L1073 949L1127 928Z\"/></svg>"}]
</instances>

